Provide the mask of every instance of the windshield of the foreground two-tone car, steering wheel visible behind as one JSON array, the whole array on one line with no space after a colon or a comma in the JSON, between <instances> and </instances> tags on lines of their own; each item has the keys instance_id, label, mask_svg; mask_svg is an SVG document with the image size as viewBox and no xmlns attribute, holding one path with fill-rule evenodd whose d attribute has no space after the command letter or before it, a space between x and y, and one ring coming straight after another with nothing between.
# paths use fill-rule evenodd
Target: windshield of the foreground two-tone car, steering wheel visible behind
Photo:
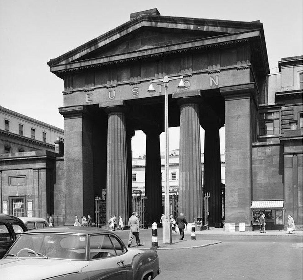
<instances>
[{"instance_id":1,"label":"windshield of the foreground two-tone car, steering wheel visible behind","mask_svg":"<svg viewBox=\"0 0 303 280\"><path fill-rule=\"evenodd\" d=\"M21 235L6 258L50 258L85 260L86 236L37 233Z\"/></svg>"}]
</instances>

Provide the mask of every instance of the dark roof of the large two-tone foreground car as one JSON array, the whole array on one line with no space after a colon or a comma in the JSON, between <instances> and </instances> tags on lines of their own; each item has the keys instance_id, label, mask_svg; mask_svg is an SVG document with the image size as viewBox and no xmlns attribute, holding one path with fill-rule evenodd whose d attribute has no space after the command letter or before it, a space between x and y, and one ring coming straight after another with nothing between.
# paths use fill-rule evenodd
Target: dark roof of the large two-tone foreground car
<instances>
[{"instance_id":1,"label":"dark roof of the large two-tone foreground car","mask_svg":"<svg viewBox=\"0 0 303 280\"><path fill-rule=\"evenodd\" d=\"M33 229L26 233L75 233L75 234L96 234L109 233L111 231L91 226L60 226L60 227L45 227Z\"/></svg>"}]
</instances>

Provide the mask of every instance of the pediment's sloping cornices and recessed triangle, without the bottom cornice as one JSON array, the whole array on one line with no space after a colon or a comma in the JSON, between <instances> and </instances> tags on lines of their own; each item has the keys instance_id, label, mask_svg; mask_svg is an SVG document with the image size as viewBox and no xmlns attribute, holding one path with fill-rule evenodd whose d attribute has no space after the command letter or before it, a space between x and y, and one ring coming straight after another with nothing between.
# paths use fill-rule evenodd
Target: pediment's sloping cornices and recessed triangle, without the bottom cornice
<instances>
[{"instance_id":1,"label":"pediment's sloping cornices and recessed triangle, without the bottom cornice","mask_svg":"<svg viewBox=\"0 0 303 280\"><path fill-rule=\"evenodd\" d=\"M197 18L140 15L121 26L93 39L66 54L51 59L51 67L117 54L128 53L127 47L134 50L159 48L185 42L187 40L205 39L213 36L231 35L252 30L263 30L260 22L222 21ZM153 32L155 36L148 36ZM170 34L170 35L169 35ZM147 35L146 40L142 35ZM164 41L156 42L158 37ZM162 37L162 39L161 39ZM168 39L171 40L168 40ZM171 41L171 42L170 42ZM139 45L139 42L141 45ZM159 46L157 45L159 43ZM163 45L161 46L160 43ZM170 44L171 43L171 44ZM133 44L133 45L132 45ZM138 44L135 46L135 44ZM160 49L162 47L162 49Z\"/></svg>"}]
</instances>

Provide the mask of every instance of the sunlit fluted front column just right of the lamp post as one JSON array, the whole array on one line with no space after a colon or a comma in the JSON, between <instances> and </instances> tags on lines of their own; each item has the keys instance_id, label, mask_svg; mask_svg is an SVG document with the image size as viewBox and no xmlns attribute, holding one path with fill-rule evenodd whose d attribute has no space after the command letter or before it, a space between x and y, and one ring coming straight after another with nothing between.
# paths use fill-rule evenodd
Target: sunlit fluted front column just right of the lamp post
<instances>
[{"instance_id":1,"label":"sunlit fluted front column just right of the lamp post","mask_svg":"<svg viewBox=\"0 0 303 280\"><path fill-rule=\"evenodd\" d=\"M199 99L183 97L180 108L179 213L188 222L202 217Z\"/></svg>"}]
</instances>

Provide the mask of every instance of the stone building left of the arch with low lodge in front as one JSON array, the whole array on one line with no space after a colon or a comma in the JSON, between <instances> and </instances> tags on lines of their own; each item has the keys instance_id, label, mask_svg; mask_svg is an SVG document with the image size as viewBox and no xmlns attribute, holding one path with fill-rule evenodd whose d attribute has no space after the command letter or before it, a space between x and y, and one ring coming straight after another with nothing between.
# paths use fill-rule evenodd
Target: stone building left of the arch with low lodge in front
<instances>
[{"instance_id":1,"label":"stone building left of the arch with low lodge in front","mask_svg":"<svg viewBox=\"0 0 303 280\"><path fill-rule=\"evenodd\" d=\"M63 141L64 130L0 106L2 213L46 218L54 212Z\"/></svg>"}]
</instances>

